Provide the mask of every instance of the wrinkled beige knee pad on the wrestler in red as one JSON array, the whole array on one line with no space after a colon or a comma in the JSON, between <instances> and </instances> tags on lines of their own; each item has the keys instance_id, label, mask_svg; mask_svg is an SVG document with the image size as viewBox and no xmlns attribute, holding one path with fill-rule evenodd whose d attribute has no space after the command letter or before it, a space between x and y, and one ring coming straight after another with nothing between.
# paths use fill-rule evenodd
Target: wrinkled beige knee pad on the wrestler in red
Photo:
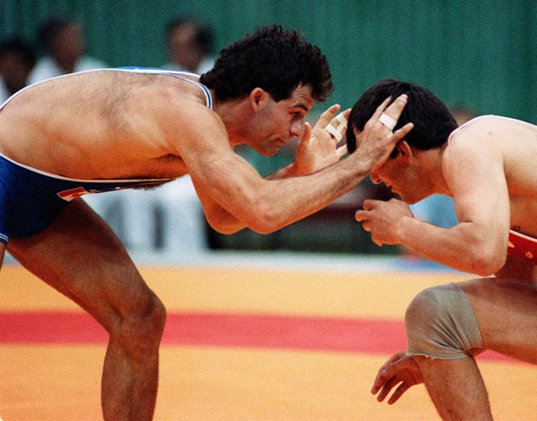
<instances>
[{"instance_id":1,"label":"wrinkled beige knee pad on the wrestler in red","mask_svg":"<svg viewBox=\"0 0 537 421\"><path fill-rule=\"evenodd\" d=\"M412 355L458 359L482 348L472 306L456 283L422 290L406 309L405 326Z\"/></svg>"}]
</instances>

